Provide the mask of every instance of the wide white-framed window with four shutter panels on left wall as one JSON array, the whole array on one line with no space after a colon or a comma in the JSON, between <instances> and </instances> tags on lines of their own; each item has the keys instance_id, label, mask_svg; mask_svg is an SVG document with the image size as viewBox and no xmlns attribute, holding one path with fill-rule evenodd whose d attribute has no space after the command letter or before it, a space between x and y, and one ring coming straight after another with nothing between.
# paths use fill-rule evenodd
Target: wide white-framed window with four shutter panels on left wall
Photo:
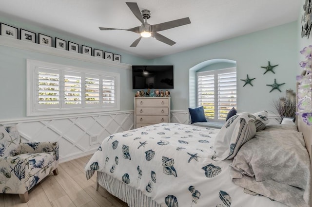
<instances>
[{"instance_id":1,"label":"wide white-framed window with four shutter panels on left wall","mask_svg":"<svg viewBox=\"0 0 312 207\"><path fill-rule=\"evenodd\" d=\"M119 74L27 60L27 116L119 110Z\"/></svg>"}]
</instances>

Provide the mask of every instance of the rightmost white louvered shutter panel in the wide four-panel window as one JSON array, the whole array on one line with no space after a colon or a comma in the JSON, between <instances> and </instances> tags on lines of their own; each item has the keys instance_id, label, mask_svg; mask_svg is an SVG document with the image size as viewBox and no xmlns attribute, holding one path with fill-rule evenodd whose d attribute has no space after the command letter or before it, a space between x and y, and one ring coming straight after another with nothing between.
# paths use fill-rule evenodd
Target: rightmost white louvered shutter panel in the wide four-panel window
<instances>
[{"instance_id":1,"label":"rightmost white louvered shutter panel in the wide four-panel window","mask_svg":"<svg viewBox=\"0 0 312 207\"><path fill-rule=\"evenodd\" d=\"M102 103L114 104L115 103L115 78L103 77L102 79Z\"/></svg>"}]
</instances>

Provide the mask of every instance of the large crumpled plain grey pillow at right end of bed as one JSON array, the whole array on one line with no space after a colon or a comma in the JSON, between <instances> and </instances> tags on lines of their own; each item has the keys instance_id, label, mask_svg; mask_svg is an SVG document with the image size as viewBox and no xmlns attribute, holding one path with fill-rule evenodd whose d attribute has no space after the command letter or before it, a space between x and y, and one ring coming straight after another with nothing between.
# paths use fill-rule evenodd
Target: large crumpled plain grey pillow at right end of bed
<instances>
[{"instance_id":1,"label":"large crumpled plain grey pillow at right end of bed","mask_svg":"<svg viewBox=\"0 0 312 207\"><path fill-rule=\"evenodd\" d=\"M287 206L307 206L310 158L301 132L257 132L234 157L232 181ZM278 193L276 193L278 192Z\"/></svg>"}]
</instances>

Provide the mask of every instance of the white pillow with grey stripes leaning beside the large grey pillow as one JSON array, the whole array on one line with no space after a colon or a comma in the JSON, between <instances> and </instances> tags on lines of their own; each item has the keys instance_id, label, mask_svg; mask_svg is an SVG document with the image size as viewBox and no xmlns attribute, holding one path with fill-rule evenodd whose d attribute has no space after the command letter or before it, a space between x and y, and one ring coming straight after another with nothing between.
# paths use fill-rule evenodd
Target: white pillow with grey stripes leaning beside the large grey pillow
<instances>
[{"instance_id":1,"label":"white pillow with grey stripes leaning beside the large grey pillow","mask_svg":"<svg viewBox=\"0 0 312 207\"><path fill-rule=\"evenodd\" d=\"M254 116L244 112L231 117L215 137L214 160L233 159L239 148L256 133Z\"/></svg>"}]
</instances>

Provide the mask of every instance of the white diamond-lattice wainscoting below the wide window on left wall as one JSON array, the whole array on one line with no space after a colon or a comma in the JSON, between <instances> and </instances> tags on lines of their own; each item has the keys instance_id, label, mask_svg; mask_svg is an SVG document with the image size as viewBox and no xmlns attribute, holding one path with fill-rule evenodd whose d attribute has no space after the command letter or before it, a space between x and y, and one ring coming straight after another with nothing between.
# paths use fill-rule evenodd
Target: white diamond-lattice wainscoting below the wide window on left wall
<instances>
[{"instance_id":1,"label":"white diamond-lattice wainscoting below the wide window on left wall","mask_svg":"<svg viewBox=\"0 0 312 207\"><path fill-rule=\"evenodd\" d=\"M1 121L3 125L16 125L22 142L58 141L59 162L93 154L104 138L117 132L133 129L134 113L84 115L70 118L44 118L37 120ZM91 143L90 138L97 138Z\"/></svg>"}]
</instances>

